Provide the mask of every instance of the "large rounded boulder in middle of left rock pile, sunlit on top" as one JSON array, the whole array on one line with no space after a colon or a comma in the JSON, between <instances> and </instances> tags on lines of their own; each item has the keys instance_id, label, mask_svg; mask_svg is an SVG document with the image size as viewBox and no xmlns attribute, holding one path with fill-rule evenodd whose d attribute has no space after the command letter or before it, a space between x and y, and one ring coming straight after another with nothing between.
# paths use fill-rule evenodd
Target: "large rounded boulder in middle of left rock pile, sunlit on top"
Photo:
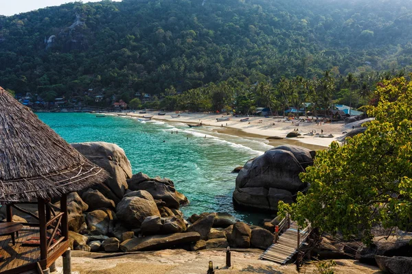
<instances>
[{"instance_id":1,"label":"large rounded boulder in middle of left rock pile, sunlit on top","mask_svg":"<svg viewBox=\"0 0 412 274\"><path fill-rule=\"evenodd\" d=\"M148 216L159 216L155 199L146 190L133 191L116 206L117 219L130 228L140 228Z\"/></svg>"}]
</instances>

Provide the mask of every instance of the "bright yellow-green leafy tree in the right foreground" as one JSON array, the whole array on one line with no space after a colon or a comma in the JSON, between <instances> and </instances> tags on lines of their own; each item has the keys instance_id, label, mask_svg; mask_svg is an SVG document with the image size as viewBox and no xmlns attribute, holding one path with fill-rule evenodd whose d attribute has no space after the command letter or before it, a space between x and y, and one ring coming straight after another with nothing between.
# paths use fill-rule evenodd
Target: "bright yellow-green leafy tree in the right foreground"
<instances>
[{"instance_id":1,"label":"bright yellow-green leafy tree in the right foreground","mask_svg":"<svg viewBox=\"0 0 412 274\"><path fill-rule=\"evenodd\" d=\"M279 203L300 225L370 243L375 225L406 229L412 219L412 82L396 78L378 86L376 119L364 134L319 151L300 177L310 184L297 203Z\"/></svg>"}]
</instances>

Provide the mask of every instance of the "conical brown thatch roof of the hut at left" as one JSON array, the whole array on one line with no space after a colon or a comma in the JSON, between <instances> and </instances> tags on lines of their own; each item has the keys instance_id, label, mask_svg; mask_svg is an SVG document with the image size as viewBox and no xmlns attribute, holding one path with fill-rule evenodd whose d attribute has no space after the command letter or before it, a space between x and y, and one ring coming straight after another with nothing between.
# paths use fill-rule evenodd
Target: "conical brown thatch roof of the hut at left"
<instances>
[{"instance_id":1,"label":"conical brown thatch roof of the hut at left","mask_svg":"<svg viewBox=\"0 0 412 274\"><path fill-rule=\"evenodd\" d=\"M108 174L0 87L0 203L60 197Z\"/></svg>"}]
</instances>

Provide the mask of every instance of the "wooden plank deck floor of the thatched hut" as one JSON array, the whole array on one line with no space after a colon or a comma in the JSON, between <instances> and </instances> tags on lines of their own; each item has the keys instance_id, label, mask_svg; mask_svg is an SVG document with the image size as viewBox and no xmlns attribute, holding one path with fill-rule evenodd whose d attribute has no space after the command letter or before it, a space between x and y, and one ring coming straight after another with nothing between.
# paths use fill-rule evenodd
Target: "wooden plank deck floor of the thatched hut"
<instances>
[{"instance_id":1,"label":"wooden plank deck floor of the thatched hut","mask_svg":"<svg viewBox=\"0 0 412 274\"><path fill-rule=\"evenodd\" d=\"M19 237L16 237L16 245L12 245L11 236L0 236L0 255L3 260L0 260L0 273L21 273L36 269L36 263L40 262L43 265L49 265L48 260L40 260L40 246L38 247L22 247L21 244L28 238L39 237L38 227L23 227L19 232ZM60 242L56 248L49 253L49 258L61 256L62 252L67 248L68 242ZM63 251L64 249L64 251Z\"/></svg>"}]
</instances>

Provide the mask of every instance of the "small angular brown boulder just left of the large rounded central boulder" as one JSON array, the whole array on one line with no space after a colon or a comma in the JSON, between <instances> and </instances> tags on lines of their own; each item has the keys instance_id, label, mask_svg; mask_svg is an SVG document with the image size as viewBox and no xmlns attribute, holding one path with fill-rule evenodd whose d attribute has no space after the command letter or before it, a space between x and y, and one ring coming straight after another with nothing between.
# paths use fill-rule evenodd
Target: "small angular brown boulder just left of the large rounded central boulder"
<instances>
[{"instance_id":1,"label":"small angular brown boulder just left of the large rounded central boulder","mask_svg":"<svg viewBox=\"0 0 412 274\"><path fill-rule=\"evenodd\" d=\"M115 218L111 210L94 210L86 216L87 228L92 235L107 235L110 222Z\"/></svg>"}]
</instances>

